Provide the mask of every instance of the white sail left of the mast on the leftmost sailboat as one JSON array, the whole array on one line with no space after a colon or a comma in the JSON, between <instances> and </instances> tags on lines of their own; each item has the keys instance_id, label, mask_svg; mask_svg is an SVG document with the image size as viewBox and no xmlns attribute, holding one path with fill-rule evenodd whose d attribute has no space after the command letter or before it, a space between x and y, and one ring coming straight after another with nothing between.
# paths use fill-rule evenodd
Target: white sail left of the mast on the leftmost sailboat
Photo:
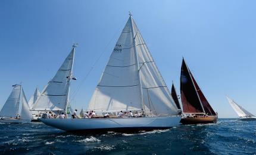
<instances>
[{"instance_id":1,"label":"white sail left of the mast on the leftmost sailboat","mask_svg":"<svg viewBox=\"0 0 256 155\"><path fill-rule=\"evenodd\" d=\"M16 117L20 104L21 85L13 85L13 91L0 111L1 117Z\"/></svg>"}]
</instances>

